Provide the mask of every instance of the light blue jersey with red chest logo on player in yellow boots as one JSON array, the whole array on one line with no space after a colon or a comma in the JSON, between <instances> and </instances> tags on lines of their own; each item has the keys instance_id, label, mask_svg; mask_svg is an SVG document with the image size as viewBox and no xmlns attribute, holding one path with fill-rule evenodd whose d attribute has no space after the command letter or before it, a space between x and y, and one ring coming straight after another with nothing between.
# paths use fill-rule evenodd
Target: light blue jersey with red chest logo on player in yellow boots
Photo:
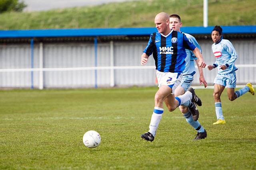
<instances>
[{"instance_id":1,"label":"light blue jersey with red chest logo on player in yellow boots","mask_svg":"<svg viewBox=\"0 0 256 170\"><path fill-rule=\"evenodd\" d=\"M228 74L236 71L238 68L235 66L237 58L236 50L232 43L227 39L222 39L218 43L212 44L212 52L216 58L214 66L218 66L218 74ZM221 65L226 65L225 70L220 69Z\"/></svg>"}]
</instances>

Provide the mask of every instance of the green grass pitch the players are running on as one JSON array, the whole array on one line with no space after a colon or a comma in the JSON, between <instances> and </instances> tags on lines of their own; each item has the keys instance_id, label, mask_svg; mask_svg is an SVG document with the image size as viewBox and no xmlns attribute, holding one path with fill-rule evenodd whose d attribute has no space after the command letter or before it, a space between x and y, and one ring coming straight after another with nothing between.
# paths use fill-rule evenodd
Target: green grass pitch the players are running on
<instances>
[{"instance_id":1,"label":"green grass pitch the players are running on","mask_svg":"<svg viewBox=\"0 0 256 170\"><path fill-rule=\"evenodd\" d=\"M148 131L157 87L80 90L1 90L0 169L256 169L256 96L230 102L222 94L225 125L216 121L212 89L196 90L203 106L196 131L178 109L164 108L154 142ZM95 130L101 144L86 148Z\"/></svg>"}]
</instances>

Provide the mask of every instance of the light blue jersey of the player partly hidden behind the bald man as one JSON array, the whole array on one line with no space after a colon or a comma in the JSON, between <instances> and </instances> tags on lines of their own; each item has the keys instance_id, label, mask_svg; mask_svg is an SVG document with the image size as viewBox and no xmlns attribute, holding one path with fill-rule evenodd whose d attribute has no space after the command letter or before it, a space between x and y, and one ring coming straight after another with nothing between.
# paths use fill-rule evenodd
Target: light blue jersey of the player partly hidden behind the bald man
<instances>
[{"instance_id":1,"label":"light blue jersey of the player partly hidden behind the bald man","mask_svg":"<svg viewBox=\"0 0 256 170\"><path fill-rule=\"evenodd\" d=\"M192 35L190 35L188 33L183 33L183 34L186 35L188 40L199 49L200 53L202 53L202 49L201 49L200 45L198 44L198 42L196 41L195 37L193 37ZM197 57L194 55L194 53L191 50L186 49L186 53L187 53L187 57L185 59L186 66L183 71L183 75L192 74L192 73L195 74L196 68L195 68L194 60L197 60Z\"/></svg>"}]
</instances>

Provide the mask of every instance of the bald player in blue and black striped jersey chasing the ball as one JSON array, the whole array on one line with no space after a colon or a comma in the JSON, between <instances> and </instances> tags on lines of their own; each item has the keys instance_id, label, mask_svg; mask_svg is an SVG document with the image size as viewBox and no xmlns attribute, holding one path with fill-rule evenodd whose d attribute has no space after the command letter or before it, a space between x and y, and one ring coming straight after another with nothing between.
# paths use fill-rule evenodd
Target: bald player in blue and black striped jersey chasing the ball
<instances>
[{"instance_id":1,"label":"bald player in blue and black striped jersey chasing the ball","mask_svg":"<svg viewBox=\"0 0 256 170\"><path fill-rule=\"evenodd\" d=\"M193 89L183 95L174 97L172 88L180 84L182 72L185 68L186 49L191 50L198 58L198 65L206 66L199 49L193 45L186 35L170 29L169 15L161 12L155 17L155 25L158 30L150 35L148 45L141 55L141 64L145 65L148 57L153 54L156 64L156 77L158 91L155 94L155 107L151 117L149 131L141 135L146 141L154 141L156 130L164 113L163 103L169 111L174 111L180 105L188 106L192 115L198 115L196 102L201 102Z\"/></svg>"}]
</instances>

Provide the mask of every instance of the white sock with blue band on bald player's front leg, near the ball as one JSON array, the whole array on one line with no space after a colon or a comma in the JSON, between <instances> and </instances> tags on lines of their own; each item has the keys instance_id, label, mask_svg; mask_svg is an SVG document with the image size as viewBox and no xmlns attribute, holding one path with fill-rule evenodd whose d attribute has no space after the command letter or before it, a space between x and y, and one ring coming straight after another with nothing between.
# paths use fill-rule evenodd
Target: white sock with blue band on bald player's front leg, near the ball
<instances>
[{"instance_id":1,"label":"white sock with blue band on bald player's front leg, near the ball","mask_svg":"<svg viewBox=\"0 0 256 170\"><path fill-rule=\"evenodd\" d=\"M155 113L157 112L156 110L158 111L164 111L163 108L160 108L160 107L154 107L154 112L151 116L151 121L150 121L150 125L149 125L149 132L155 136L156 135L156 130L158 128L158 125L160 123L160 120L162 118L162 113Z\"/></svg>"}]
</instances>

